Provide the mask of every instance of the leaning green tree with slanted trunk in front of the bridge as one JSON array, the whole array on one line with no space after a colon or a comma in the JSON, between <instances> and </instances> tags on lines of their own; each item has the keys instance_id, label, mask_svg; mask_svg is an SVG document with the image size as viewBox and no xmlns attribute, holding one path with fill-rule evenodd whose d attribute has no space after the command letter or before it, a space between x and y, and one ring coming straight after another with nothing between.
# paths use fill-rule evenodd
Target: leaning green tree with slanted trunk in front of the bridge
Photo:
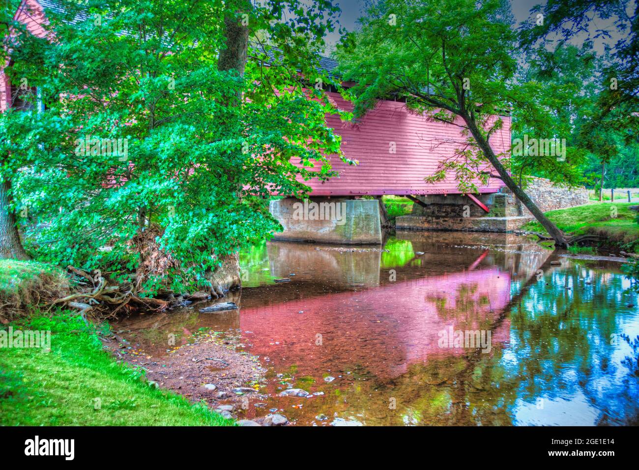
<instances>
[{"instance_id":1,"label":"leaning green tree with slanted trunk in front of the bridge","mask_svg":"<svg viewBox=\"0 0 639 470\"><path fill-rule=\"evenodd\" d=\"M361 30L347 38L339 58L344 79L355 81L355 113L378 98L402 97L410 108L458 125L468 140L440 163L429 181L453 172L461 191L486 182L492 166L499 178L550 233L558 245L569 239L539 210L509 173L509 155L497 155L491 135L502 126L499 114L514 107L550 122L535 100L541 87L514 81L517 37L504 4L488 0L383 0L360 20ZM557 136L550 135L549 138ZM488 174L487 174L488 173Z\"/></svg>"}]
</instances>

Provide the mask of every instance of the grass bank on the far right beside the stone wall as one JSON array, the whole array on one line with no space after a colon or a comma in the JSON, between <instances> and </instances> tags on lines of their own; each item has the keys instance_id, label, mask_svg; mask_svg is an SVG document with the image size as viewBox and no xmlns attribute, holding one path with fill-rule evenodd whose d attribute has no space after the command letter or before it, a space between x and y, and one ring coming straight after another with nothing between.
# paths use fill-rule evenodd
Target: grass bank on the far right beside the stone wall
<instances>
[{"instance_id":1,"label":"grass bank on the far right beside the stone wall","mask_svg":"<svg viewBox=\"0 0 639 470\"><path fill-rule=\"evenodd\" d=\"M574 235L594 233L614 246L636 249L639 248L639 224L635 221L637 212L629 209L636 205L637 203L594 203L551 210L546 212L546 216L560 230ZM546 233L537 221L529 222L522 228Z\"/></svg>"}]
</instances>

